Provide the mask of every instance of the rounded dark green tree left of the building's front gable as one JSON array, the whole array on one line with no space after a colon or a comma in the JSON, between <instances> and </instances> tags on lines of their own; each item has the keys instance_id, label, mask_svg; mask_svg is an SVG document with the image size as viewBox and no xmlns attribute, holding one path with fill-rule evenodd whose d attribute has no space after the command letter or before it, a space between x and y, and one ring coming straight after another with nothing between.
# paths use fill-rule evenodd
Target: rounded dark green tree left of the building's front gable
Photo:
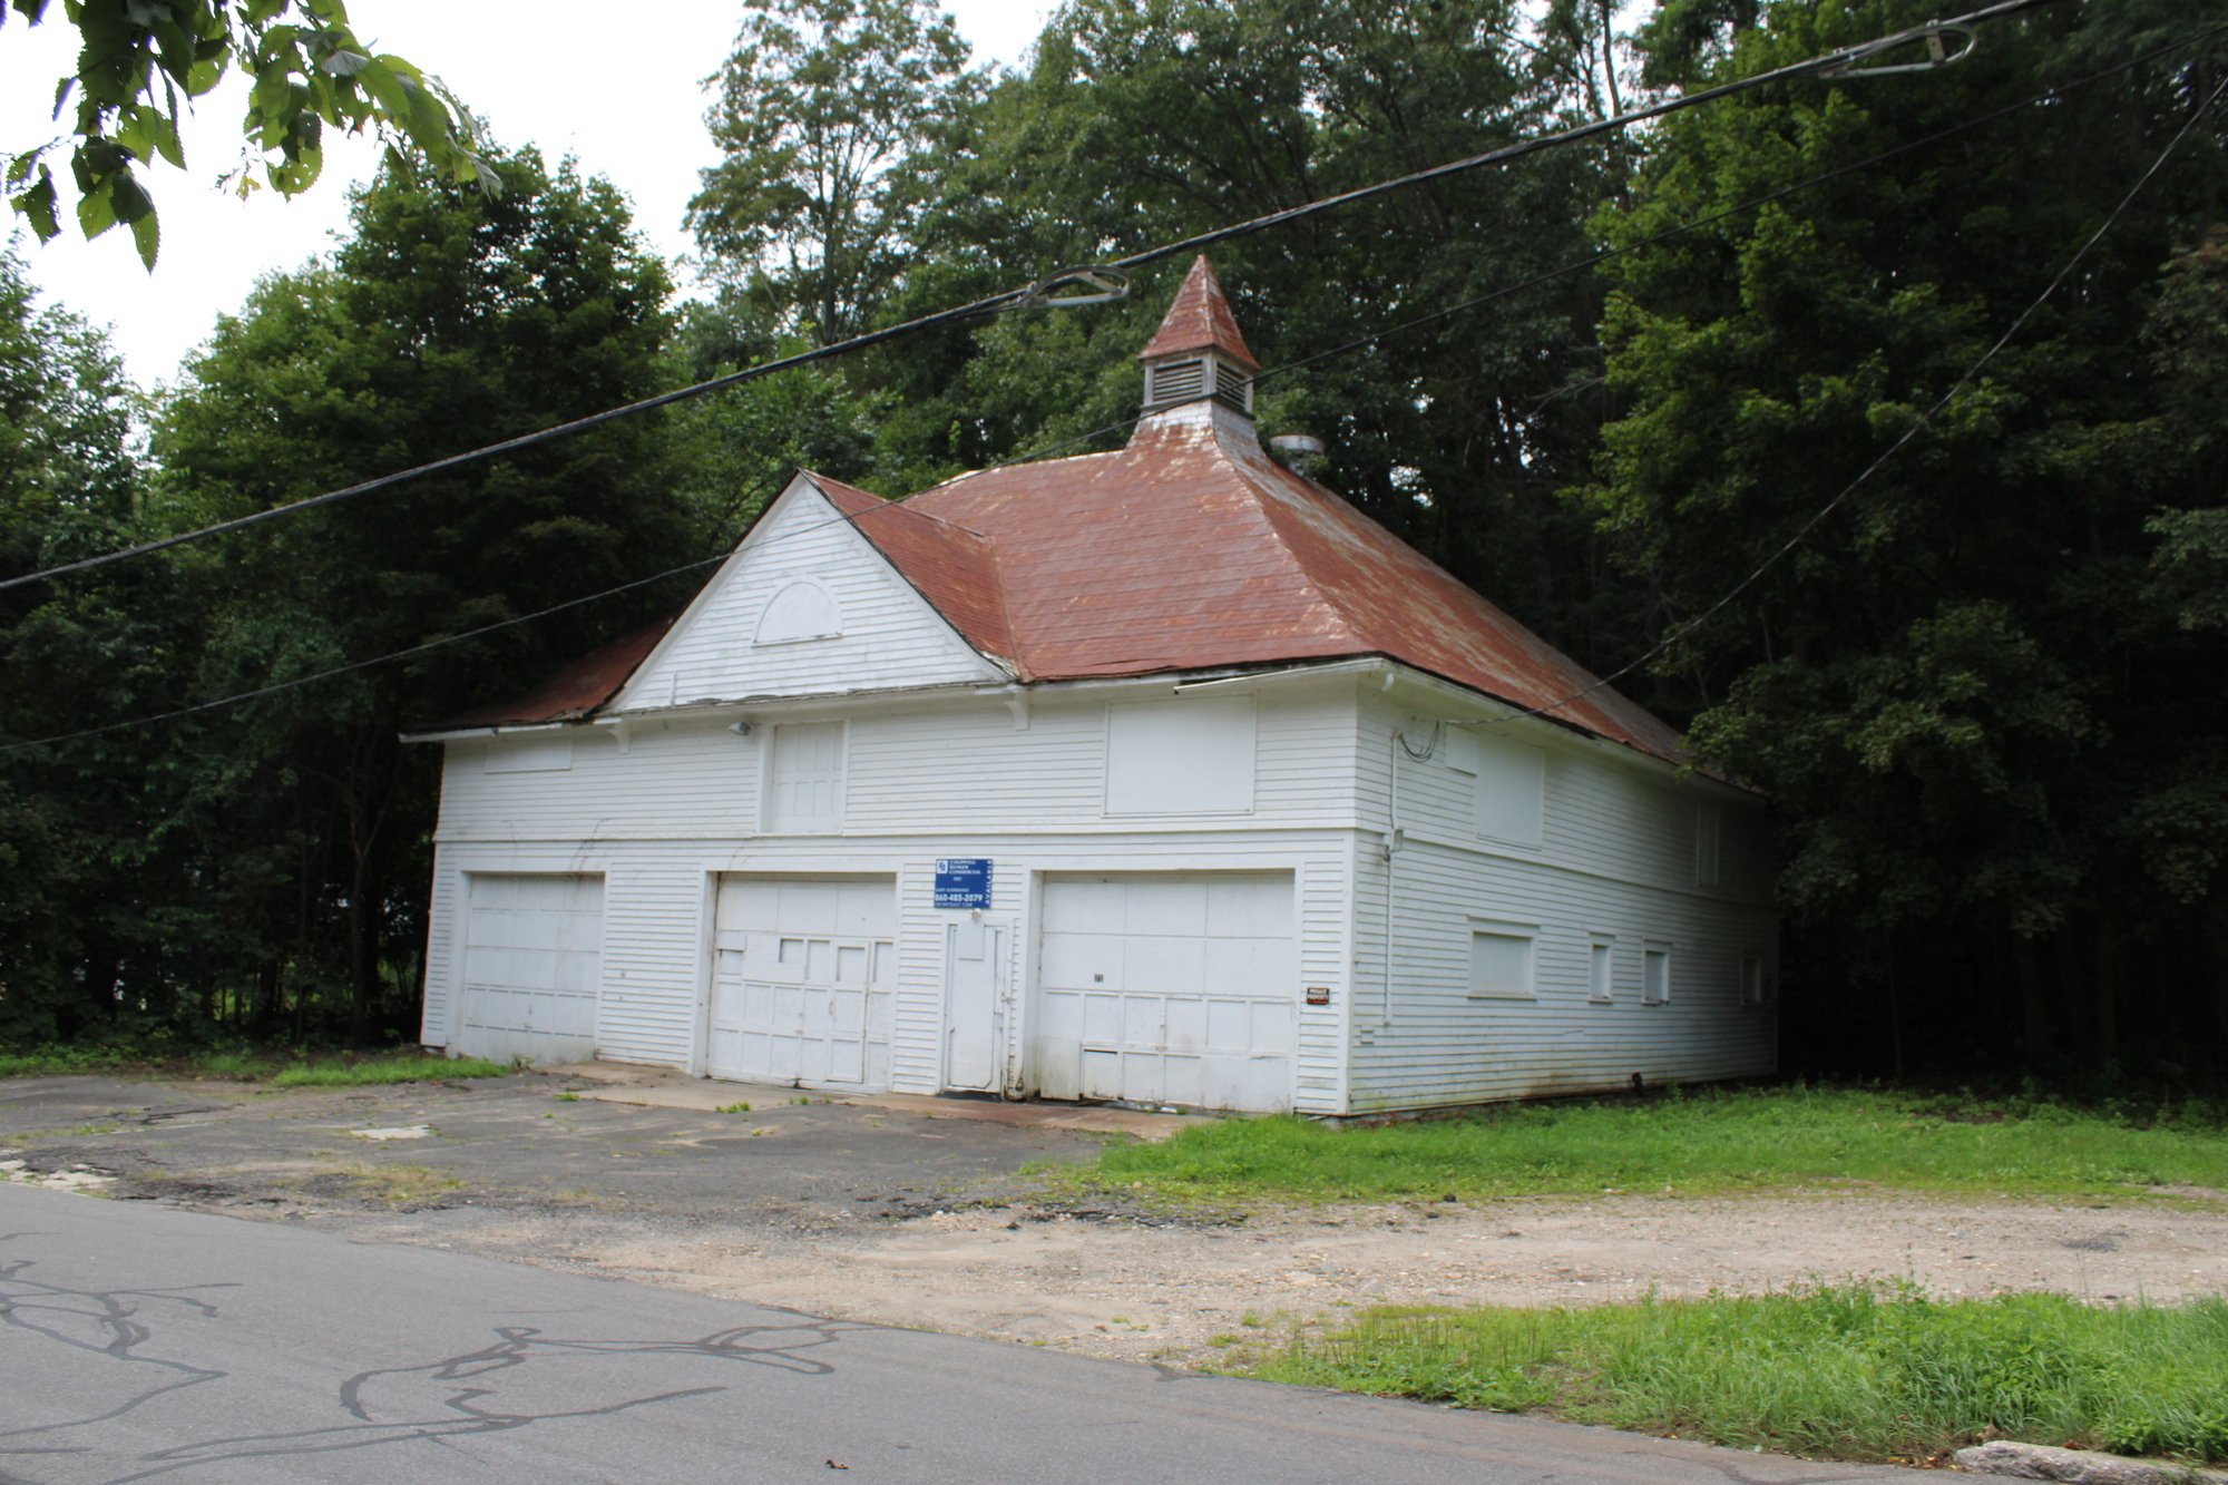
<instances>
[{"instance_id":1,"label":"rounded dark green tree left of the building's front gable","mask_svg":"<svg viewBox=\"0 0 2228 1485\"><path fill-rule=\"evenodd\" d=\"M330 268L265 281L156 419L174 524L285 504L570 421L659 388L664 268L606 181L535 152L499 198L390 163ZM677 566L691 520L662 419L423 477L196 551L214 615L201 685L238 691L521 618ZM524 687L675 591L448 644L229 714L256 760L243 825L296 858L265 916L359 1035L399 1023L428 890L434 767L397 736ZM270 805L256 812L256 800Z\"/></svg>"}]
</instances>

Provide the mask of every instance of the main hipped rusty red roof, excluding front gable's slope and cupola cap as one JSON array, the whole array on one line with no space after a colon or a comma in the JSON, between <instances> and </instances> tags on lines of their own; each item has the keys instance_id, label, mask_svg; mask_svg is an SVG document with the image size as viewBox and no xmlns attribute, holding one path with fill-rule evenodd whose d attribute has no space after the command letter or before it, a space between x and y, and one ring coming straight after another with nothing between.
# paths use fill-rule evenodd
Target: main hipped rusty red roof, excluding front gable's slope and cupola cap
<instances>
[{"instance_id":1,"label":"main hipped rusty red roof, excluding front gable's slope and cupola cap","mask_svg":"<svg viewBox=\"0 0 2228 1485\"><path fill-rule=\"evenodd\" d=\"M1386 656L1682 760L1615 691L1564 700L1595 678L1212 401L1145 417L1121 453L962 475L905 506L996 542L1029 680Z\"/></svg>"}]
</instances>

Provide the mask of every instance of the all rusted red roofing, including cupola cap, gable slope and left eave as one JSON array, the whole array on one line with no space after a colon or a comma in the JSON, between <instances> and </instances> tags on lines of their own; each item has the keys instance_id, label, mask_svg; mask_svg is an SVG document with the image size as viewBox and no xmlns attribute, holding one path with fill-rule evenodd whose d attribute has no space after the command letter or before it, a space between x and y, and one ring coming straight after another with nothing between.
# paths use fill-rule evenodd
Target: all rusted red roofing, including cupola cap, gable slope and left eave
<instances>
[{"instance_id":1,"label":"all rusted red roofing, including cupola cap, gable slope and left eave","mask_svg":"<svg viewBox=\"0 0 2228 1485\"><path fill-rule=\"evenodd\" d=\"M1145 355L1203 348L1254 366L1199 259ZM1678 734L1270 459L1252 419L1216 401L1143 417L1118 453L960 475L907 502L809 479L969 644L1025 682L1384 656L1684 763ZM668 624L443 729L582 718Z\"/></svg>"}]
</instances>

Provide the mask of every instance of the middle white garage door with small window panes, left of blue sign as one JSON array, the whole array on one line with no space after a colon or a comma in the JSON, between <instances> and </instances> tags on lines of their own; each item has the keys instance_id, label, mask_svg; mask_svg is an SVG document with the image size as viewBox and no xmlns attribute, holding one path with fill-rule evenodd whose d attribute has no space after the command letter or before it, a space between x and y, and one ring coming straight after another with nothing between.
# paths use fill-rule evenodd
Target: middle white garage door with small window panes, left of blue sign
<instances>
[{"instance_id":1,"label":"middle white garage door with small window panes, left of blue sign","mask_svg":"<svg viewBox=\"0 0 2228 1485\"><path fill-rule=\"evenodd\" d=\"M887 1088L898 883L722 876L713 1077Z\"/></svg>"}]
</instances>

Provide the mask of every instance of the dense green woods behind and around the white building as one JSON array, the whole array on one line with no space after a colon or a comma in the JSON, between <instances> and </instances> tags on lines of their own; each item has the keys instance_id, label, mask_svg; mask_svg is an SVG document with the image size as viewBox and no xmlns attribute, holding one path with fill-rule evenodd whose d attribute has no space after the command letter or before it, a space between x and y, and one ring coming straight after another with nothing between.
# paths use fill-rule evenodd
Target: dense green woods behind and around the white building
<instances>
[{"instance_id":1,"label":"dense green woods behind and around the white building","mask_svg":"<svg viewBox=\"0 0 2228 1485\"><path fill-rule=\"evenodd\" d=\"M152 406L11 263L0 578L1927 18L1074 0L994 74L913 0L764 0L709 116L704 301L668 308L617 192L532 152L490 156L501 196L397 161ZM1310 473L1584 664L1638 662L1622 689L1773 796L1794 1068L2228 1044L2221 27L2228 0L2059 0L1952 67L1214 250L1266 433L1326 439ZM905 495L1116 446L1183 265L0 591L0 1039L408 1032L434 771L394 736L686 580L22 742L653 578L798 464Z\"/></svg>"}]
</instances>

